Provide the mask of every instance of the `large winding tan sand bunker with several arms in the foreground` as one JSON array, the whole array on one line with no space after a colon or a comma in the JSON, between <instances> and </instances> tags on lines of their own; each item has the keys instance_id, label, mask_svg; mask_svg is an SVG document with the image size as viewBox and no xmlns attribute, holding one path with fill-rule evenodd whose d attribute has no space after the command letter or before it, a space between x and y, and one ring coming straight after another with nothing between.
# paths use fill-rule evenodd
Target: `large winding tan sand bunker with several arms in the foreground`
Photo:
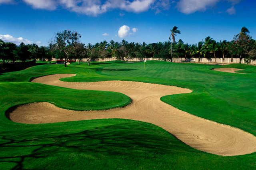
<instances>
[{"instance_id":1,"label":"large winding tan sand bunker with several arms in the foreground","mask_svg":"<svg viewBox=\"0 0 256 170\"><path fill-rule=\"evenodd\" d=\"M62 82L59 80L70 76L74 74L44 76L34 79L33 82L74 89L121 92L132 98L132 104L124 108L103 111L73 111L40 102L17 107L9 113L10 119L28 124L105 118L132 119L160 126L189 146L212 154L235 156L256 151L256 137L252 134L183 112L160 100L162 96L190 93L192 90L129 81Z\"/></svg>"}]
</instances>

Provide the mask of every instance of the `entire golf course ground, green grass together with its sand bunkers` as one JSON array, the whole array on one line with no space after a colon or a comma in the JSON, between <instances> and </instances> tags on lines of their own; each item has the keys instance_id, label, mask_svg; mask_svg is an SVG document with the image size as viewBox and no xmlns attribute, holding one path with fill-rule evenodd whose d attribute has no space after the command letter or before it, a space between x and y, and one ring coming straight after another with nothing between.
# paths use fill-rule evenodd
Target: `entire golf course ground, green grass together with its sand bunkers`
<instances>
[{"instance_id":1,"label":"entire golf course ground, green grass together with its sand bunkers","mask_svg":"<svg viewBox=\"0 0 256 170\"><path fill-rule=\"evenodd\" d=\"M92 62L0 74L0 169L256 168L256 67Z\"/></svg>"}]
</instances>

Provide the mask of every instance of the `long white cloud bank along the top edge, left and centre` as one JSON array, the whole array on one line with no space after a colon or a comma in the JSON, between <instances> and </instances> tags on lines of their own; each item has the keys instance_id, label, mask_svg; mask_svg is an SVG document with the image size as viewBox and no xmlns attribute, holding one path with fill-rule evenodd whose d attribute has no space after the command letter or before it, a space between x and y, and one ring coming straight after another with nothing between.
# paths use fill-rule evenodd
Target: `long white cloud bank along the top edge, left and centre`
<instances>
[{"instance_id":1,"label":"long white cloud bank along the top edge, left and centre","mask_svg":"<svg viewBox=\"0 0 256 170\"><path fill-rule=\"evenodd\" d=\"M3 0L0 0L3 1ZM6 0L5 0L6 1ZM33 8L54 10L57 6L81 14L97 16L111 9L129 12L144 12L156 0L23 0ZM163 0L157 0L163 1Z\"/></svg>"}]
</instances>

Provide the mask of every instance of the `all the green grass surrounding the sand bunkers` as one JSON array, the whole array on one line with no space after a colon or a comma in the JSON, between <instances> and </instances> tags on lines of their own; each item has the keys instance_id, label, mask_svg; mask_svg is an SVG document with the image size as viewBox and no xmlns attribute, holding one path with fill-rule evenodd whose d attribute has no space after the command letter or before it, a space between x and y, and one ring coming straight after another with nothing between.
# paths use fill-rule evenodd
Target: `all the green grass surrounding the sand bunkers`
<instances>
[{"instance_id":1,"label":"all the green grass surrounding the sand bunkers","mask_svg":"<svg viewBox=\"0 0 256 170\"><path fill-rule=\"evenodd\" d=\"M245 69L246 74L212 71ZM256 135L256 67L213 66L151 61L40 65L0 75L0 169L256 169L256 153L222 157L195 150L155 125L108 119L55 124L18 124L5 116L15 105L47 101L75 110L124 106L120 93L73 90L28 82L57 73L75 73L64 81L130 80L175 85L190 94L163 96L162 101L191 114ZM98 97L97 97L98 96ZM97 101L97 103L96 103ZM101 108L100 108L101 106Z\"/></svg>"}]
</instances>

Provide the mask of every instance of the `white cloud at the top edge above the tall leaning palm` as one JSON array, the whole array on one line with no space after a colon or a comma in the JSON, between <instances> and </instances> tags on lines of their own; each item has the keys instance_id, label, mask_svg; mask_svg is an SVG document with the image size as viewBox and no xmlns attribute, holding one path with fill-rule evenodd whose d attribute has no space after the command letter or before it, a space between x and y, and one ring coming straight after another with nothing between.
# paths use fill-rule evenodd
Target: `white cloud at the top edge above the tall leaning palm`
<instances>
[{"instance_id":1,"label":"white cloud at the top edge above the tall leaning palm","mask_svg":"<svg viewBox=\"0 0 256 170\"><path fill-rule=\"evenodd\" d=\"M180 0L178 9L185 14L191 14L196 11L205 11L207 7L214 6L219 0Z\"/></svg>"}]
</instances>

